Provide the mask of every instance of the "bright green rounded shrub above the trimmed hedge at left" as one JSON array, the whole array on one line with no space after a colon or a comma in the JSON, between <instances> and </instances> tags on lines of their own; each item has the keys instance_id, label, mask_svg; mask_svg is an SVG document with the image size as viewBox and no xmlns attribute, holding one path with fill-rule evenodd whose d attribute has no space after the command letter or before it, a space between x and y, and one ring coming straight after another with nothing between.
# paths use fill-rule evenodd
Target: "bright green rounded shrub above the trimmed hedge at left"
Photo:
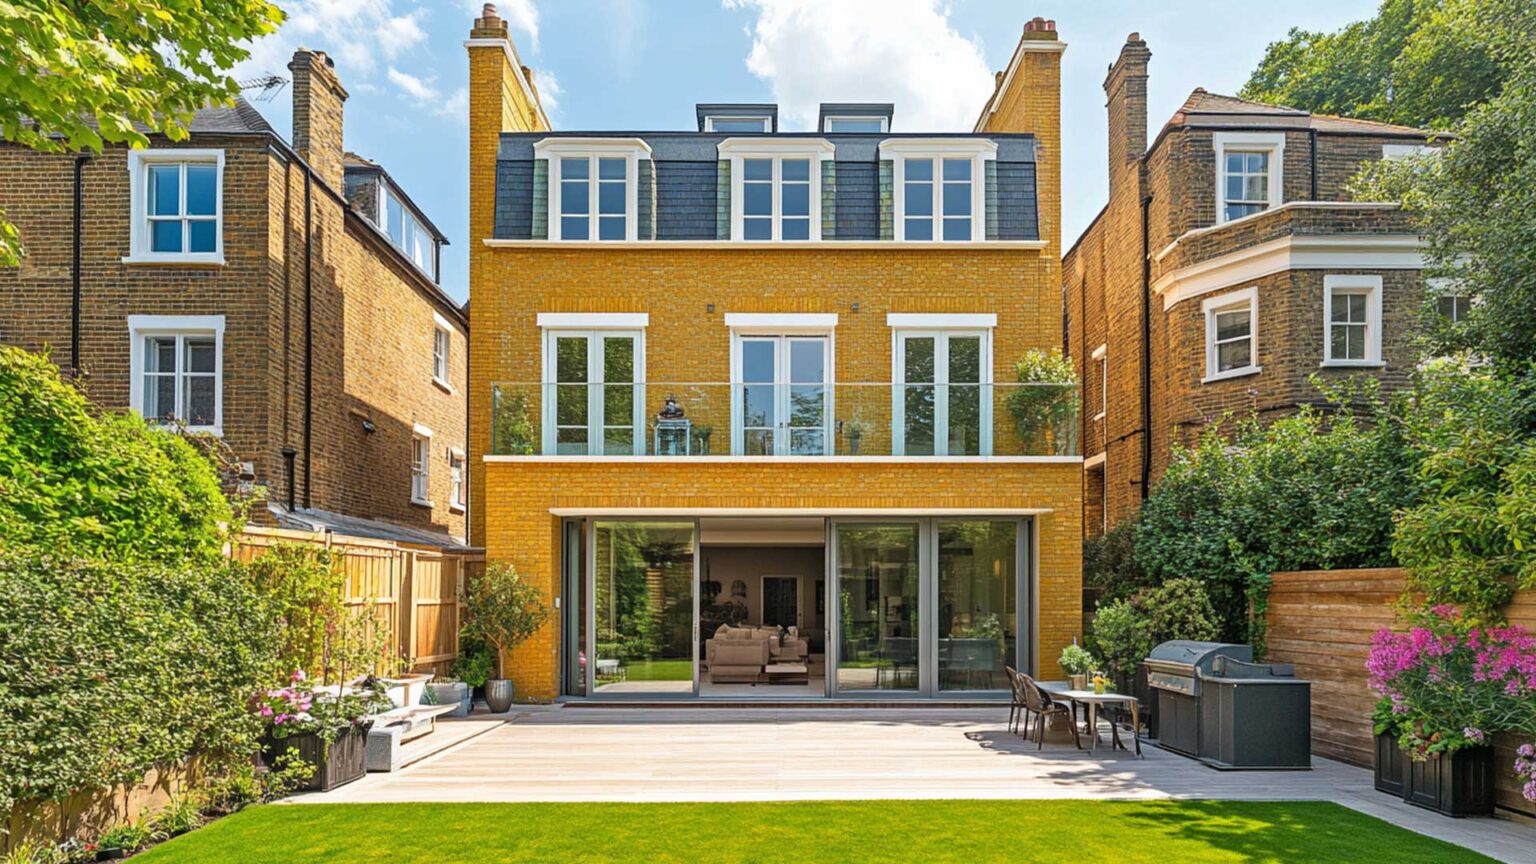
<instances>
[{"instance_id":1,"label":"bright green rounded shrub above the trimmed hedge at left","mask_svg":"<svg viewBox=\"0 0 1536 864\"><path fill-rule=\"evenodd\" d=\"M0 346L0 547L215 560L232 518L180 435L94 414L46 357Z\"/></svg>"}]
</instances>

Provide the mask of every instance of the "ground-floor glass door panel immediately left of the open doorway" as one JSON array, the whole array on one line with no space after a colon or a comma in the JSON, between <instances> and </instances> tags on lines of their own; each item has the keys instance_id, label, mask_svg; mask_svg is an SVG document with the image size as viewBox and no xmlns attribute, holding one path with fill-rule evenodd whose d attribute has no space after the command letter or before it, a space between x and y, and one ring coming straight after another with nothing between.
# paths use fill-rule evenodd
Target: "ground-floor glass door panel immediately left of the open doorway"
<instances>
[{"instance_id":1,"label":"ground-floor glass door panel immediately left of the open doorway","mask_svg":"<svg viewBox=\"0 0 1536 864\"><path fill-rule=\"evenodd\" d=\"M590 692L693 695L694 523L596 521L591 549Z\"/></svg>"}]
</instances>

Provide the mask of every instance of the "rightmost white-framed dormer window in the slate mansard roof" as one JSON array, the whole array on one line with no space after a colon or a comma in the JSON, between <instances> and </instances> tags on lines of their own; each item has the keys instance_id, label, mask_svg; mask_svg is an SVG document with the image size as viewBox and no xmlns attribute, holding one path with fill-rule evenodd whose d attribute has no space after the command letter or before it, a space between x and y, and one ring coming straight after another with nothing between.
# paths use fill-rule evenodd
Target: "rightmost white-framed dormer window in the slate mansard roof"
<instances>
[{"instance_id":1,"label":"rightmost white-framed dormer window in the slate mansard roof","mask_svg":"<svg viewBox=\"0 0 1536 864\"><path fill-rule=\"evenodd\" d=\"M895 240L969 243L986 237L986 160L989 140L900 140L880 145L892 161Z\"/></svg>"}]
</instances>

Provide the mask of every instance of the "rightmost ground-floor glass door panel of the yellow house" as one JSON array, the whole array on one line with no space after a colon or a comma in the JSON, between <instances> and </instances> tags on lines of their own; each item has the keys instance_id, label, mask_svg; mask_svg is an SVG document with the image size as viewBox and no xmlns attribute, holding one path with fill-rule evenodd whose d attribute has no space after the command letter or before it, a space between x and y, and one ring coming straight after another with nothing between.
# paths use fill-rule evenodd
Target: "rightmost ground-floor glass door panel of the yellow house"
<instances>
[{"instance_id":1,"label":"rightmost ground-floor glass door panel of the yellow house","mask_svg":"<svg viewBox=\"0 0 1536 864\"><path fill-rule=\"evenodd\" d=\"M1018 521L935 521L938 689L1006 690L1018 656Z\"/></svg>"}]
</instances>

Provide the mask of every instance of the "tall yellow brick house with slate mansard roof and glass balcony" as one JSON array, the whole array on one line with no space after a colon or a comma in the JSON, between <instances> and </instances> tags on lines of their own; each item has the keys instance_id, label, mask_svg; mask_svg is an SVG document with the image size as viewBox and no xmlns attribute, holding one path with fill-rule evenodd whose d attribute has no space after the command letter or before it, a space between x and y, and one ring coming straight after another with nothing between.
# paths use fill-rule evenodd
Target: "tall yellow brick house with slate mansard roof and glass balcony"
<instances>
[{"instance_id":1,"label":"tall yellow brick house with slate mansard roof and glass balcony","mask_svg":"<svg viewBox=\"0 0 1536 864\"><path fill-rule=\"evenodd\" d=\"M558 613L519 698L1006 698L1081 621L1061 344L1060 55L971 132L699 105L556 132L470 40L472 538Z\"/></svg>"}]
</instances>

